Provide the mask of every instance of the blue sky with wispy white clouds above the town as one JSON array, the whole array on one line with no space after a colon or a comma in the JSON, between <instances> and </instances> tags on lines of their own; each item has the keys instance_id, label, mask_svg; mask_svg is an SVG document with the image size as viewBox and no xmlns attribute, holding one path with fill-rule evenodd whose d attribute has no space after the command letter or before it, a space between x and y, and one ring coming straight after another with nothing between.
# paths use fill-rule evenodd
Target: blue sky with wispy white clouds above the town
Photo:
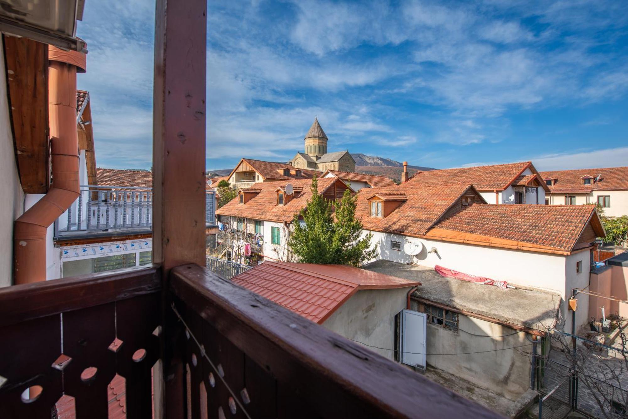
<instances>
[{"instance_id":1,"label":"blue sky with wispy white clouds above the town","mask_svg":"<svg viewBox=\"0 0 628 419\"><path fill-rule=\"evenodd\" d=\"M628 2L208 2L207 168L329 151L628 165ZM99 167L151 166L154 3L85 2Z\"/></svg>"}]
</instances>

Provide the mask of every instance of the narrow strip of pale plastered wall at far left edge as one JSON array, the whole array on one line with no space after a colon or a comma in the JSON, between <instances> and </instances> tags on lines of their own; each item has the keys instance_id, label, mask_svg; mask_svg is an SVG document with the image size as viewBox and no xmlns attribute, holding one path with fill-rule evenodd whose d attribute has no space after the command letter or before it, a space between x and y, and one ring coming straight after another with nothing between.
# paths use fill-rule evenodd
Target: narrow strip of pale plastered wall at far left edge
<instances>
[{"instance_id":1,"label":"narrow strip of pale plastered wall at far left edge","mask_svg":"<svg viewBox=\"0 0 628 419\"><path fill-rule=\"evenodd\" d=\"M13 222L24 213L9 116L4 48L0 48L0 287L13 284Z\"/></svg>"}]
</instances>

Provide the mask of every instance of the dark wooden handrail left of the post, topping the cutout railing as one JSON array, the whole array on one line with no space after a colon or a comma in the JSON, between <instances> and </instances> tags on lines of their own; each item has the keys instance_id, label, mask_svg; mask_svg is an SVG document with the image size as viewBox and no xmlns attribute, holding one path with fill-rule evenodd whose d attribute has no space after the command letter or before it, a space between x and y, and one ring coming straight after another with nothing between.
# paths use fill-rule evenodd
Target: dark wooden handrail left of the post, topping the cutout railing
<instances>
[{"instance_id":1,"label":"dark wooden handrail left of the post, topping the cutout railing","mask_svg":"<svg viewBox=\"0 0 628 419\"><path fill-rule=\"evenodd\" d=\"M0 327L161 290L159 268L126 268L0 288Z\"/></svg>"}]
</instances>

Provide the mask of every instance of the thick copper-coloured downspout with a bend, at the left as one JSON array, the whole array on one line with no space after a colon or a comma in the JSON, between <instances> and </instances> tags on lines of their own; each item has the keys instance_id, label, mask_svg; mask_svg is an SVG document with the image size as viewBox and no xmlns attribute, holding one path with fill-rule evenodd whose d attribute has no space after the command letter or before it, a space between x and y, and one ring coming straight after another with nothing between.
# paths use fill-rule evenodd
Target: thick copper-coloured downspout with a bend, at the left
<instances>
[{"instance_id":1,"label":"thick copper-coloured downspout with a bend, at the left","mask_svg":"<svg viewBox=\"0 0 628 419\"><path fill-rule=\"evenodd\" d=\"M52 183L48 193L16 221L13 233L14 284L46 280L46 231L79 195L77 70L85 55L48 46L48 115Z\"/></svg>"}]
</instances>

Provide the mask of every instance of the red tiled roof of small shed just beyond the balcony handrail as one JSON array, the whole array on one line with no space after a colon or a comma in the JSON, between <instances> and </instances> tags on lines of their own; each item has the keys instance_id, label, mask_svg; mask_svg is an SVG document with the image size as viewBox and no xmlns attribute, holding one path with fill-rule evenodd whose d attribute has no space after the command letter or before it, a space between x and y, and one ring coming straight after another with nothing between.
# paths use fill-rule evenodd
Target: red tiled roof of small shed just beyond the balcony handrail
<instances>
[{"instance_id":1,"label":"red tiled roof of small shed just beyond the balcony handrail","mask_svg":"<svg viewBox=\"0 0 628 419\"><path fill-rule=\"evenodd\" d=\"M287 262L264 262L231 280L318 324L358 290L420 285L349 266Z\"/></svg>"}]
</instances>

